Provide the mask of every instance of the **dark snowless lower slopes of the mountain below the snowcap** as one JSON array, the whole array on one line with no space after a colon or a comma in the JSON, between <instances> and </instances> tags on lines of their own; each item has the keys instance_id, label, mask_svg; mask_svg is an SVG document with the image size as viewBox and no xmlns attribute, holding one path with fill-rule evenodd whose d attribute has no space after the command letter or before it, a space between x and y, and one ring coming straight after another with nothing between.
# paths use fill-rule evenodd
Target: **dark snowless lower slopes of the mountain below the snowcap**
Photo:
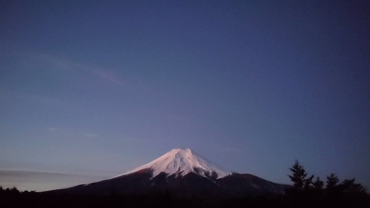
<instances>
[{"instance_id":1,"label":"dark snowless lower slopes of the mountain below the snowcap","mask_svg":"<svg viewBox=\"0 0 370 208\"><path fill-rule=\"evenodd\" d=\"M288 185L276 184L250 174L228 175L223 178L206 178L196 173L184 176L167 175L164 172L154 178L149 169L71 188L46 193L72 195L148 195L171 192L176 197L211 195L212 197L240 197L245 195L283 194Z\"/></svg>"}]
</instances>

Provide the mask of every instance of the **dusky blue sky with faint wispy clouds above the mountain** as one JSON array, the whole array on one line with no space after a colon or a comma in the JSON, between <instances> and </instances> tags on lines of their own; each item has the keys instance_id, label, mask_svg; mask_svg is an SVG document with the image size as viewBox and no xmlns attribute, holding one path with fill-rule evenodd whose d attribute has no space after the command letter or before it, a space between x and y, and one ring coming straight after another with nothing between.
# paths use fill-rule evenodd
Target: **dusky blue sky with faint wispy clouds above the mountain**
<instances>
[{"instance_id":1,"label":"dusky blue sky with faint wispy clouds above the mountain","mask_svg":"<svg viewBox=\"0 0 370 208\"><path fill-rule=\"evenodd\" d=\"M3 1L0 185L45 191L191 148L370 188L366 1Z\"/></svg>"}]
</instances>

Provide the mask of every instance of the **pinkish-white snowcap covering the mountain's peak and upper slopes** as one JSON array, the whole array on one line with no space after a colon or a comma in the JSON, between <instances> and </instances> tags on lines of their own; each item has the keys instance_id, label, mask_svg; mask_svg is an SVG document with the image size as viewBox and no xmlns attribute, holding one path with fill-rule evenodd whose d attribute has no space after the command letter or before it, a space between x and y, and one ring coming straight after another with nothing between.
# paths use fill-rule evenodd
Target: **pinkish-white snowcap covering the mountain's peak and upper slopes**
<instances>
[{"instance_id":1,"label":"pinkish-white snowcap covering the mountain's peak and upper slopes","mask_svg":"<svg viewBox=\"0 0 370 208\"><path fill-rule=\"evenodd\" d=\"M168 175L186 175L189 172L194 172L203 177L207 177L212 174L212 172L216 172L217 178L223 178L232 173L190 149L173 149L156 160L134 170L125 172L122 175L128 175L143 169L153 170L152 177L157 176L160 172L165 172ZM118 175L117 177L122 175Z\"/></svg>"}]
</instances>

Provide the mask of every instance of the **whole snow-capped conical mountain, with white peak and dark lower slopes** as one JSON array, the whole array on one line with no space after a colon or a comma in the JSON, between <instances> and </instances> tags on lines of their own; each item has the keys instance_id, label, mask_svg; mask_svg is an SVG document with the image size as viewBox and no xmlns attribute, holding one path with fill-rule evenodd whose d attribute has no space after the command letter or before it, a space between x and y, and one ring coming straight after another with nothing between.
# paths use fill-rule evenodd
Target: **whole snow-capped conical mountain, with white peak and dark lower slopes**
<instances>
[{"instance_id":1,"label":"whole snow-capped conical mountain, with white peak and dark lower slopes","mask_svg":"<svg viewBox=\"0 0 370 208\"><path fill-rule=\"evenodd\" d=\"M173 149L148 164L114 178L48 192L75 195L171 192L179 196L244 196L283 194L288 187L255 175L232 172L190 149Z\"/></svg>"}]
</instances>

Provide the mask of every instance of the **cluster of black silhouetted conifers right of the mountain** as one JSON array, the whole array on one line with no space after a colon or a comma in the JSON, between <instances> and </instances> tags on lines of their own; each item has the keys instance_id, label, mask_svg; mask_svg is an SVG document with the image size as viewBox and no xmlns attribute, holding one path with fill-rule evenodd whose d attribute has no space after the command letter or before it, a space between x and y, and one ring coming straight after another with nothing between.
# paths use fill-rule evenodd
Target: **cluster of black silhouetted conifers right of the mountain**
<instances>
[{"instance_id":1,"label":"cluster of black silhouetted conifers right of the mountain","mask_svg":"<svg viewBox=\"0 0 370 208\"><path fill-rule=\"evenodd\" d=\"M366 189L355 183L355 179L344 179L340 182L335 174L326 176L326 182L320 177L308 173L295 162L289 168L288 175L293 186L286 190L285 201L288 207L370 207L370 198Z\"/></svg>"}]
</instances>

